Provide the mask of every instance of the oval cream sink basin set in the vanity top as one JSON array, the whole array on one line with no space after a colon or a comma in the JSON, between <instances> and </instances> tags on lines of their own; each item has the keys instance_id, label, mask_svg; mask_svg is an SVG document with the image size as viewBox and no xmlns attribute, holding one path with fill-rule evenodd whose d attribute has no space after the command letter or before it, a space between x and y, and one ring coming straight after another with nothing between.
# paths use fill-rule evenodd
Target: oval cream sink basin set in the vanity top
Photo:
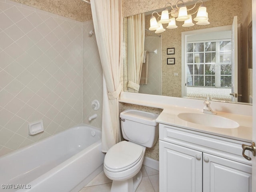
<instances>
[{"instance_id":1,"label":"oval cream sink basin set in the vanity top","mask_svg":"<svg viewBox=\"0 0 256 192\"><path fill-rule=\"evenodd\" d=\"M216 128L238 128L239 124L231 119L204 113L180 113L178 118L195 124Z\"/></svg>"}]
</instances>

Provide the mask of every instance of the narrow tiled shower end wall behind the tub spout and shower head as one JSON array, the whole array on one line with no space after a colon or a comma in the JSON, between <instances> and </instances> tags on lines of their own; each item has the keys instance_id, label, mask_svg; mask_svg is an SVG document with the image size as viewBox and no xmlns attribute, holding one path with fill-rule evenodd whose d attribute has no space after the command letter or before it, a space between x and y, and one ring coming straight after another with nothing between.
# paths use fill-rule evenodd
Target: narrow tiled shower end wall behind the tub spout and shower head
<instances>
[{"instance_id":1,"label":"narrow tiled shower end wall behind the tub spout and shower head","mask_svg":"<svg viewBox=\"0 0 256 192\"><path fill-rule=\"evenodd\" d=\"M93 34L89 35L92 31ZM102 66L92 20L83 22L83 122L98 128L102 126ZM92 109L92 101L100 102L99 110ZM89 121L89 116L97 118Z\"/></svg>"}]
</instances>

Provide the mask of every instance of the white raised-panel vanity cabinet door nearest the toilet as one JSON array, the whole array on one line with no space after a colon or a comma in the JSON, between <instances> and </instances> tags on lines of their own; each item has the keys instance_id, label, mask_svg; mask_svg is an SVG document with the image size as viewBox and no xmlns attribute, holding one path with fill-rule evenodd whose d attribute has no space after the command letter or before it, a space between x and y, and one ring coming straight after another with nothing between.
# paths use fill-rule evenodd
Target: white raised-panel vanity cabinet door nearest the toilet
<instances>
[{"instance_id":1,"label":"white raised-panel vanity cabinet door nearest the toilet","mask_svg":"<svg viewBox=\"0 0 256 192\"><path fill-rule=\"evenodd\" d=\"M202 192L202 152L159 141L160 192Z\"/></svg>"}]
</instances>

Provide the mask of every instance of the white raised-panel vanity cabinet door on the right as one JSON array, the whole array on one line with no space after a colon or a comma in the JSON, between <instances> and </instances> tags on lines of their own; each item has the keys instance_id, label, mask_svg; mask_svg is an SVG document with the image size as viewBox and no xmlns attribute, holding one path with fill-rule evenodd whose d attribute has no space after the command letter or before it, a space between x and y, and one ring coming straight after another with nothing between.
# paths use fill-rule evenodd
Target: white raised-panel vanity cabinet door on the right
<instances>
[{"instance_id":1,"label":"white raised-panel vanity cabinet door on the right","mask_svg":"<svg viewBox=\"0 0 256 192\"><path fill-rule=\"evenodd\" d=\"M203 154L204 192L251 192L252 167Z\"/></svg>"}]
</instances>

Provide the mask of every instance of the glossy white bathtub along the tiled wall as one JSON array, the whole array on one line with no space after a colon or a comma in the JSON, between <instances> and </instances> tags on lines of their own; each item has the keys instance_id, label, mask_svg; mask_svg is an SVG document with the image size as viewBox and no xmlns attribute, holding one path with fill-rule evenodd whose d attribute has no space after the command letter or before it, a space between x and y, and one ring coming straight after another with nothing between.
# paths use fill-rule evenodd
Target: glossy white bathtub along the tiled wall
<instances>
[{"instance_id":1,"label":"glossy white bathtub along the tiled wall","mask_svg":"<svg viewBox=\"0 0 256 192\"><path fill-rule=\"evenodd\" d=\"M0 158L0 191L78 192L103 170L101 131L82 124Z\"/></svg>"}]
</instances>

